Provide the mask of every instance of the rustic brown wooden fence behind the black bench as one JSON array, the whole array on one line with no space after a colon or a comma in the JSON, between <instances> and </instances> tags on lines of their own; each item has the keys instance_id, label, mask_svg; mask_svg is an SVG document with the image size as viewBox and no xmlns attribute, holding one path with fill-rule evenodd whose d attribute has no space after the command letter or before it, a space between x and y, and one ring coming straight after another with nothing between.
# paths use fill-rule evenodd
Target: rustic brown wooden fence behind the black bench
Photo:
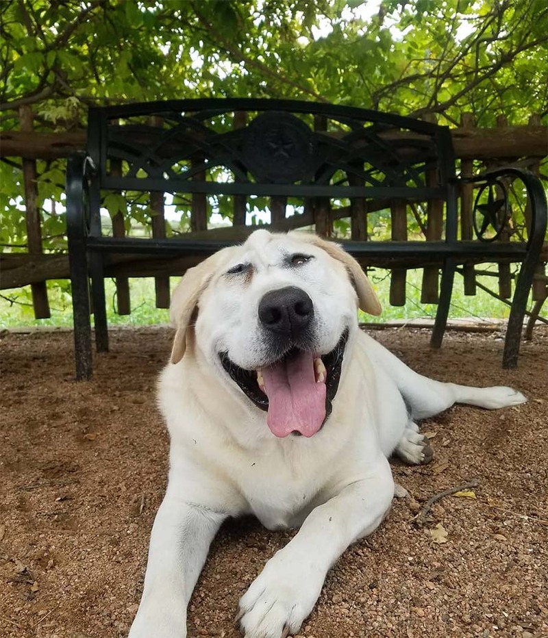
<instances>
[{"instance_id":1,"label":"rustic brown wooden fence behind the black bench","mask_svg":"<svg viewBox=\"0 0 548 638\"><path fill-rule=\"evenodd\" d=\"M0 255L0 288L18 288L31 285L34 313L36 318L49 317L49 303L45 282L49 279L66 279L69 277L69 261L66 253L45 253L42 248L42 231L38 200L38 181L36 160L58 159L66 157L75 150L85 146L85 133L34 133L32 112L29 107L21 107L21 131L1 133L0 155L2 157L23 157L23 185L26 207L27 253L4 251ZM246 114L236 113L234 127L245 125ZM432 121L432 120L430 120ZM160 122L151 122L161 125ZM325 122L317 118L316 130L322 130ZM460 173L469 177L478 170L497 166L513 165L529 168L540 175L540 163L548 155L546 130L540 126L540 118L531 116L526 126L509 126L504 118L498 118L497 128L477 129L471 114L463 114L461 125L451 131L453 146L460 160ZM111 170L121 170L121 166L111 166ZM429 175L434 181L436 175ZM356 185L356 184L352 184ZM463 239L473 238L473 202L475 192L471 185L462 186L460 197L460 233ZM271 198L271 227L277 230L288 230L292 227L311 226L324 236L332 236L336 220L346 219L349 223L350 235L355 240L366 240L371 233L368 219L379 210L389 211L391 238L408 240L410 223L420 229L427 240L440 239L443 229L444 207L441 201L432 201L424 210L419 205L406 201L364 201L354 200L349 205L334 208L329 200L316 202L314 206L306 205L304 212L298 216L286 218L287 201L283 198ZM185 237L243 239L245 237L245 218L247 202L244 196L232 199L233 226L208 229L209 206L205 194L193 194L190 201L190 231ZM523 205L521 212L516 210L516 218L506 229L506 240L510 241L512 233L526 233L529 204ZM164 214L164 194L150 193L147 208L150 212L150 233L155 238L166 235L166 219ZM520 228L523 225L523 228ZM125 216L117 212L112 216L112 233L114 236L125 234ZM547 279L545 277L545 261L548 259L547 249L543 251L543 261L538 264L538 272L534 281L533 299L538 307L547 296ZM129 298L129 277L155 277L156 305L169 307L169 277L180 275L186 268L195 264L195 258L179 257L177 259L147 259L131 255L120 255L109 266L107 274L116 279L116 301L120 314L129 314L131 304ZM475 294L476 275L489 274L478 270L477 266L466 265L461 270L464 278L464 292ZM390 304L403 305L406 301L407 267L400 265L393 268L390 279ZM512 275L510 264L498 264L498 296L502 300L512 296ZM438 266L433 264L423 269L421 288L422 303L438 301ZM480 285L480 287L482 287Z\"/></svg>"}]
</instances>

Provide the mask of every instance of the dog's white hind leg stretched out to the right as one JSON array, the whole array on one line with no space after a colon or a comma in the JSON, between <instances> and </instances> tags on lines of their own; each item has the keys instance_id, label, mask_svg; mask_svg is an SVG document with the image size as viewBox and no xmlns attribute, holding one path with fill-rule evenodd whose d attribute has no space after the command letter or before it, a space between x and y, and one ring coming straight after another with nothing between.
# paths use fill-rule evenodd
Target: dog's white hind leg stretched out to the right
<instances>
[{"instance_id":1,"label":"dog's white hind leg stretched out to the right","mask_svg":"<svg viewBox=\"0 0 548 638\"><path fill-rule=\"evenodd\" d=\"M423 377L369 336L366 347L371 360L382 366L396 383L414 420L439 414L453 403L466 403L493 410L518 405L527 400L512 387L470 387Z\"/></svg>"}]
</instances>

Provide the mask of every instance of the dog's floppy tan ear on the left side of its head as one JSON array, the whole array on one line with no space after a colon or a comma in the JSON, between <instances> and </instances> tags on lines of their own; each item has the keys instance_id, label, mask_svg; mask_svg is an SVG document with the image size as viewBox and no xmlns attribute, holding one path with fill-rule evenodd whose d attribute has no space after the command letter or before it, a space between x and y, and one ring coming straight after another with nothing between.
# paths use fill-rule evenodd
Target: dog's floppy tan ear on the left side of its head
<instances>
[{"instance_id":1,"label":"dog's floppy tan ear on the left side of its head","mask_svg":"<svg viewBox=\"0 0 548 638\"><path fill-rule=\"evenodd\" d=\"M229 258L234 248L235 246L223 248L194 268L188 268L173 291L169 318L176 332L171 349L171 363L179 363L183 358L187 332L192 328L190 323L197 316L199 299L215 272Z\"/></svg>"}]
</instances>

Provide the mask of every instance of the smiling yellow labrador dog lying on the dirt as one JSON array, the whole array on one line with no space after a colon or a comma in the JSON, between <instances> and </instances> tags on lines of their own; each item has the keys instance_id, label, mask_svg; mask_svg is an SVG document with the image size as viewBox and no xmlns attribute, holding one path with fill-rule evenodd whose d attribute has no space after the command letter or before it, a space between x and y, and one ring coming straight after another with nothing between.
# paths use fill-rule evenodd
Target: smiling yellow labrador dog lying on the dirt
<instances>
[{"instance_id":1,"label":"smiling yellow labrador dog lying on the dirt","mask_svg":"<svg viewBox=\"0 0 548 638\"><path fill-rule=\"evenodd\" d=\"M246 638L296 633L325 575L373 532L394 496L388 457L429 460L416 420L453 403L525 401L412 372L358 328L378 315L345 251L299 232L253 233L188 270L160 379L171 435L169 483L152 529L130 638L186 637L186 607L227 517L299 527L240 600Z\"/></svg>"}]
</instances>

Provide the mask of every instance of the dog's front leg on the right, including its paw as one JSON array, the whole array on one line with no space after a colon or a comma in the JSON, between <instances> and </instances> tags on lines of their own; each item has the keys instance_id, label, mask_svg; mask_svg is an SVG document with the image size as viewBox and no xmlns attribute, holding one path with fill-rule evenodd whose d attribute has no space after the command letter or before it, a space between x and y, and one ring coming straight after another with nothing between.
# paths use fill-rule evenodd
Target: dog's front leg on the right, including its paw
<instances>
[{"instance_id":1,"label":"dog's front leg on the right, including its paw","mask_svg":"<svg viewBox=\"0 0 548 638\"><path fill-rule=\"evenodd\" d=\"M394 483L388 461L316 507L299 533L273 558L240 600L245 638L281 638L298 632L333 563L356 539L370 534L390 507Z\"/></svg>"}]
</instances>

